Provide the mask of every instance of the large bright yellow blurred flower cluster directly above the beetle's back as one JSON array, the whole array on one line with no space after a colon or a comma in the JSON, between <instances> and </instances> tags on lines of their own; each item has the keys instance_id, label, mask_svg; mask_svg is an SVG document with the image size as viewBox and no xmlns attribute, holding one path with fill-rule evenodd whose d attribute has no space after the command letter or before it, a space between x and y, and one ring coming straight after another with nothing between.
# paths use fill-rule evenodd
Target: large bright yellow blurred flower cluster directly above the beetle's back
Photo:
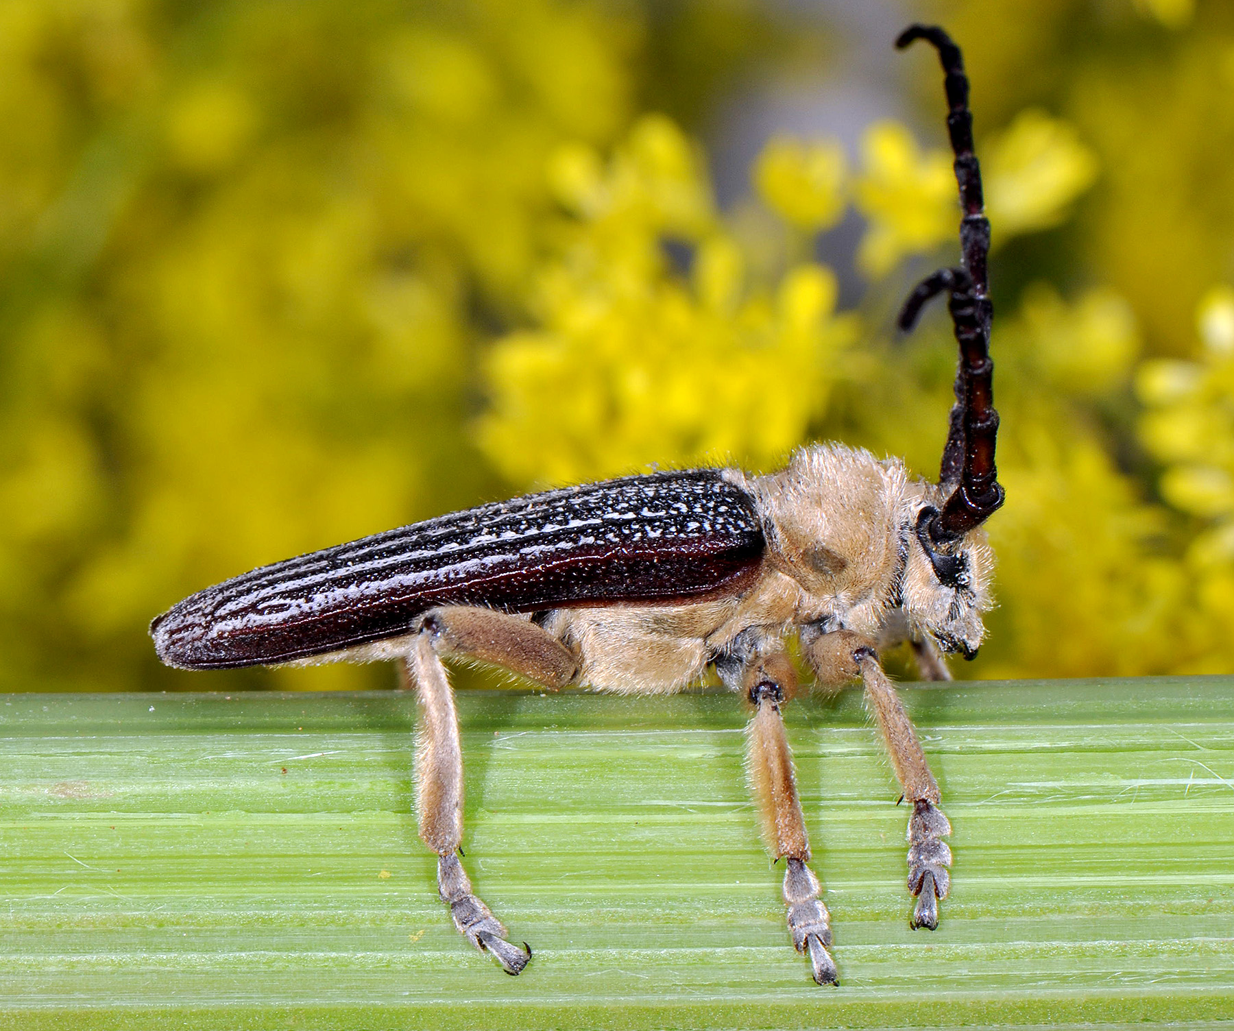
<instances>
[{"instance_id":1,"label":"large bright yellow blurred flower cluster directly above the beetle's back","mask_svg":"<svg viewBox=\"0 0 1234 1031\"><path fill-rule=\"evenodd\" d=\"M489 353L479 433L494 465L531 485L782 459L826 411L855 337L830 269L753 281L700 155L664 117L607 162L570 146L549 168L574 220L537 270L538 327Z\"/></svg>"}]
</instances>

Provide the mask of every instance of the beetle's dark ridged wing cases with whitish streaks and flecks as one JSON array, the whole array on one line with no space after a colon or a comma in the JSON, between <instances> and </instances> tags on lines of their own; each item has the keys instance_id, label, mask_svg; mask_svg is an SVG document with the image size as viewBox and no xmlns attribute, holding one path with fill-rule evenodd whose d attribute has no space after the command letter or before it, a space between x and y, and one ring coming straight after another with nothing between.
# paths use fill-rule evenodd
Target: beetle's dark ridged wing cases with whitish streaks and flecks
<instances>
[{"instance_id":1,"label":"beetle's dark ridged wing cases with whitish streaks and flecks","mask_svg":"<svg viewBox=\"0 0 1234 1031\"><path fill-rule=\"evenodd\" d=\"M170 666L285 662L394 638L434 606L534 612L691 598L763 556L748 493L718 470L590 483L441 516L263 566L151 624Z\"/></svg>"}]
</instances>

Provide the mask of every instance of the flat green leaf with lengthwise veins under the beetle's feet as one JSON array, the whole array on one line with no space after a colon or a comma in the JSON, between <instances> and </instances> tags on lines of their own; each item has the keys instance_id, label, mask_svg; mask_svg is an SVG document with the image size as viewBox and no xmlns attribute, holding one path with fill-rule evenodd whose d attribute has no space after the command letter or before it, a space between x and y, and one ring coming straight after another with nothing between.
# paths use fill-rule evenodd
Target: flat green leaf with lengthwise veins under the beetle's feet
<instances>
[{"instance_id":1,"label":"flat green leaf with lengthwise veins under the beetle's feet","mask_svg":"<svg viewBox=\"0 0 1234 1031\"><path fill-rule=\"evenodd\" d=\"M1234 1020L1234 678L903 689L955 832L911 931L860 696L789 707L840 987L792 951L724 694L459 694L473 951L416 836L415 702L0 697L0 1027Z\"/></svg>"}]
</instances>

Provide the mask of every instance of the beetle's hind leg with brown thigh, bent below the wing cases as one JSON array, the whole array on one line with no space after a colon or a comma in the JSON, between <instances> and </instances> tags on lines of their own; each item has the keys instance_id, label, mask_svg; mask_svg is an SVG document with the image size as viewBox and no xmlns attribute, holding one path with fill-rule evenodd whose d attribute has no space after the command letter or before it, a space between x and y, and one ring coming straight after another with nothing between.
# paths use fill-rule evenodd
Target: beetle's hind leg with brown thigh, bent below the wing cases
<instances>
[{"instance_id":1,"label":"beetle's hind leg with brown thigh, bent below the wing cases","mask_svg":"<svg viewBox=\"0 0 1234 1031\"><path fill-rule=\"evenodd\" d=\"M496 956L506 973L517 974L527 966L531 950L506 941L506 929L471 890L458 857L463 840L463 750L442 654L500 663L548 684L569 682L578 661L533 623L489 609L445 607L424 617L405 663L406 686L415 688L420 699L416 808L420 836L438 856L437 890L449 905L459 932L476 948Z\"/></svg>"}]
</instances>

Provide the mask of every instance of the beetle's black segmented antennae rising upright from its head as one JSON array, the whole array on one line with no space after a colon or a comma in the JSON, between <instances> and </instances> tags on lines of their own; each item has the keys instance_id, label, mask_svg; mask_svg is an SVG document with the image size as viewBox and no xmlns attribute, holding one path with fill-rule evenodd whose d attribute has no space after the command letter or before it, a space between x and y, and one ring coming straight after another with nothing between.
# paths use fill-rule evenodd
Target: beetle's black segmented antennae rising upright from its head
<instances>
[{"instance_id":1,"label":"beetle's black segmented antennae rising upright from its head","mask_svg":"<svg viewBox=\"0 0 1234 1031\"><path fill-rule=\"evenodd\" d=\"M987 296L986 260L990 254L990 221L981 192L981 166L972 152L972 112L969 79L955 42L937 25L911 25L896 39L903 49L926 39L938 51L945 74L946 129L955 154L955 181L960 187L960 260L958 269L940 269L927 276L908 296L900 312L900 328L912 329L926 303L949 295L948 310L960 345L955 376L955 405L939 482L951 487L943 511L924 527L935 544L953 541L980 525L1003 503L1003 488L995 466L998 413L993 406L993 363L990 360L990 324L993 308Z\"/></svg>"}]
</instances>

